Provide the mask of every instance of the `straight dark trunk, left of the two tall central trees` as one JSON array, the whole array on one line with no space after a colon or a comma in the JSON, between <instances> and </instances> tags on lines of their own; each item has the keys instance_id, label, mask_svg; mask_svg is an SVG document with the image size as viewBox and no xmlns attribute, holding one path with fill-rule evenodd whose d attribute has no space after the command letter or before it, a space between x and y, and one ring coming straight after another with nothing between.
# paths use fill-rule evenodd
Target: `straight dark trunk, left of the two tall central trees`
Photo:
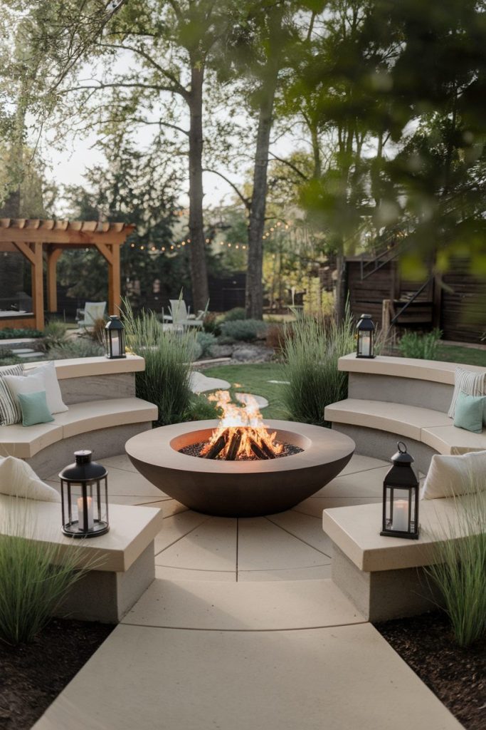
<instances>
[{"instance_id":1,"label":"straight dark trunk, left of the two tall central trees","mask_svg":"<svg viewBox=\"0 0 486 730\"><path fill-rule=\"evenodd\" d=\"M208 303L203 219L203 80L204 67L192 64L189 92L189 233L191 237L191 281L194 309Z\"/></svg>"}]
</instances>

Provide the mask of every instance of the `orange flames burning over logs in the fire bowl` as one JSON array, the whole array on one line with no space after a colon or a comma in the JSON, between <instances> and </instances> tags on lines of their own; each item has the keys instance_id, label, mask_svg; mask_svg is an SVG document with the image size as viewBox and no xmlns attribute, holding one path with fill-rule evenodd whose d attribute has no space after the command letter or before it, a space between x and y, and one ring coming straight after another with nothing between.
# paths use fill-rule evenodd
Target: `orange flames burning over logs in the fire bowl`
<instances>
[{"instance_id":1,"label":"orange flames burning over logs in the fire bowl","mask_svg":"<svg viewBox=\"0 0 486 730\"><path fill-rule=\"evenodd\" d=\"M228 391L216 391L208 396L209 400L216 401L217 407L222 410L222 416L218 428L213 431L200 456L206 456L219 439L224 439L224 447L218 454L218 458L222 459L251 458L258 456L258 449L263 452L260 458L272 458L281 454L283 445L275 443L276 431L273 434L267 431L254 396L236 393L236 398L243 405L232 403ZM238 439L238 450L232 454L230 450L235 449Z\"/></svg>"}]
</instances>

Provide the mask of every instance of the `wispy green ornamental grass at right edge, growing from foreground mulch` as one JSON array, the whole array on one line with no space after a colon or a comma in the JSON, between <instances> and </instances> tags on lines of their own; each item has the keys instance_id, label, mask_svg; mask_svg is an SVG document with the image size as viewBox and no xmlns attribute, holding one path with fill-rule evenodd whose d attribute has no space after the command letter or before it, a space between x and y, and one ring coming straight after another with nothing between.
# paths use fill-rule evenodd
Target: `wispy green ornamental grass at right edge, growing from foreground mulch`
<instances>
[{"instance_id":1,"label":"wispy green ornamental grass at right edge, growing from foreground mulch","mask_svg":"<svg viewBox=\"0 0 486 730\"><path fill-rule=\"evenodd\" d=\"M486 633L486 501L481 492L449 499L455 515L433 532L439 542L426 571L442 593L455 640L466 647Z\"/></svg>"}]
</instances>

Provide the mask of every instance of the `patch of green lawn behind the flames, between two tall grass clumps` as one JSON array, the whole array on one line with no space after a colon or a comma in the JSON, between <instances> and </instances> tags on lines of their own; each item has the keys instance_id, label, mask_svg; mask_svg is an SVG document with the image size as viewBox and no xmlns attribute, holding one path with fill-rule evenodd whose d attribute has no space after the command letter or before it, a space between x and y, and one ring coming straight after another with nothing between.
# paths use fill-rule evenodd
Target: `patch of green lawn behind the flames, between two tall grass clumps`
<instances>
[{"instance_id":1,"label":"patch of green lawn behind the flames, between two tall grass clumps","mask_svg":"<svg viewBox=\"0 0 486 730\"><path fill-rule=\"evenodd\" d=\"M269 380L283 380L282 366L278 363L259 363L247 365L222 365L203 370L208 377L220 377L231 384L230 393L252 393L264 396L268 407L262 411L265 418L286 418L283 409L282 383L269 383Z\"/></svg>"}]
</instances>

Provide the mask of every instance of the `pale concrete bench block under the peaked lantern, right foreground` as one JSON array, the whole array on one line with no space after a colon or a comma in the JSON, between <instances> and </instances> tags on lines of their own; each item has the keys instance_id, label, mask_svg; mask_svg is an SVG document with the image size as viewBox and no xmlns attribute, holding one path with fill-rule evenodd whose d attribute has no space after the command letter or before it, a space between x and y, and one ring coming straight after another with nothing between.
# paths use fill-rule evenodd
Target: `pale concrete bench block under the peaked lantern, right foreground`
<instances>
[{"instance_id":1,"label":"pale concrete bench block under the peaked lantern, right foreground","mask_svg":"<svg viewBox=\"0 0 486 730\"><path fill-rule=\"evenodd\" d=\"M486 493L472 499L486 502ZM332 580L369 621L432 610L439 595L423 568L436 560L444 529L462 534L457 515L454 499L421 501L419 539L408 540L380 535L381 504L324 510L323 529L333 542Z\"/></svg>"}]
</instances>

